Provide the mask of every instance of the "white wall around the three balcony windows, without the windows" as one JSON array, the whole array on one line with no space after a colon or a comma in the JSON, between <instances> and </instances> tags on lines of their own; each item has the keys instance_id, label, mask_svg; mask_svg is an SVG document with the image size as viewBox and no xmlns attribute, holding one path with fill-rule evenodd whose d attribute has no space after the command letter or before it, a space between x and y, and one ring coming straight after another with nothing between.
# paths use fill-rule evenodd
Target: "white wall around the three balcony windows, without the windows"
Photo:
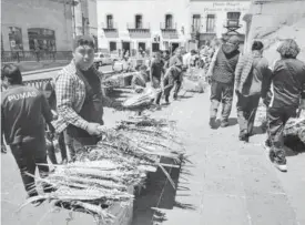
<instances>
[{"instance_id":1,"label":"white wall around the three balcony windows, without the windows","mask_svg":"<svg viewBox=\"0 0 305 225\"><path fill-rule=\"evenodd\" d=\"M174 7L173 7L174 6ZM99 48L108 49L110 41L131 41L135 47L138 42L145 42L151 48L151 42L155 35L161 37L161 49L163 38L160 29L160 23L165 22L165 14L173 14L173 23L177 23L177 39L170 40L171 42L183 42L186 39L187 32L181 32L181 28L186 25L185 8L187 0L98 0L98 38ZM128 31L126 23L134 23L136 13L143 16L143 25L150 27L150 33L138 34L136 38L131 38ZM112 14L114 24L119 33L113 34L112 38L106 38L103 27L106 24L106 14Z\"/></svg>"}]
</instances>

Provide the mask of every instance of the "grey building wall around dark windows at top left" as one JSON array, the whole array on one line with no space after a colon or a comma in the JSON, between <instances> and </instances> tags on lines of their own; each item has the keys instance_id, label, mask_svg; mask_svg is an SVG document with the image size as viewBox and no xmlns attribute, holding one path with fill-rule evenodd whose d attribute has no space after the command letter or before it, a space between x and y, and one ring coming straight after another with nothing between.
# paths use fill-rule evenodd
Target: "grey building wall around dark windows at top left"
<instances>
[{"instance_id":1,"label":"grey building wall around dark windows at top left","mask_svg":"<svg viewBox=\"0 0 305 225\"><path fill-rule=\"evenodd\" d=\"M55 31L58 51L72 48L72 13L69 4L57 0L1 0L1 32L4 51L10 51L9 28L22 29L23 49L29 50L28 28Z\"/></svg>"}]
</instances>

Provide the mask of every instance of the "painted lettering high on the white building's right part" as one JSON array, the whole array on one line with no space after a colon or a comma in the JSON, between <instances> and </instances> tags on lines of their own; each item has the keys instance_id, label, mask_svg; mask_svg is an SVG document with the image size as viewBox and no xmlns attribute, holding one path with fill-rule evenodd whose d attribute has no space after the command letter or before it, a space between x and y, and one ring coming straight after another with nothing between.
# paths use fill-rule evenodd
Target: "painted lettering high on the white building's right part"
<instances>
[{"instance_id":1,"label":"painted lettering high on the white building's right part","mask_svg":"<svg viewBox=\"0 0 305 225\"><path fill-rule=\"evenodd\" d=\"M242 12L247 11L241 2L214 2L211 7L205 7L204 12Z\"/></svg>"}]
</instances>

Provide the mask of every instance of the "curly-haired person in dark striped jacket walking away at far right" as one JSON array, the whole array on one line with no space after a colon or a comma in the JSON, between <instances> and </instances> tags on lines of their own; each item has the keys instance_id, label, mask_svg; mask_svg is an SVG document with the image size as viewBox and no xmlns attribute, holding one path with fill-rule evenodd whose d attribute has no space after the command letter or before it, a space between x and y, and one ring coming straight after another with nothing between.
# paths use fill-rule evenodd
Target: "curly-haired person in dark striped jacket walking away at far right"
<instances>
[{"instance_id":1,"label":"curly-haired person in dark striped jacket walking away at far right","mask_svg":"<svg viewBox=\"0 0 305 225\"><path fill-rule=\"evenodd\" d=\"M267 105L267 134L265 147L270 158L282 172L287 171L283 131L297 109L305 110L305 63L297 60L299 47L292 39L284 40L277 48L281 60L276 61L264 102Z\"/></svg>"}]
</instances>

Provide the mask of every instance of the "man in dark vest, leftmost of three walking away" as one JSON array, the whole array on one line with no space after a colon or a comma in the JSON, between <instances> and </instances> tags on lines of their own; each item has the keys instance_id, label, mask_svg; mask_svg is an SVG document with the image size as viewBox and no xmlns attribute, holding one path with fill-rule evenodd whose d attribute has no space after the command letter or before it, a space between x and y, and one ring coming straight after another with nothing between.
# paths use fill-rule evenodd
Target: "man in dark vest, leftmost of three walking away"
<instances>
[{"instance_id":1,"label":"man in dark vest, leftmost of three walking away","mask_svg":"<svg viewBox=\"0 0 305 225\"><path fill-rule=\"evenodd\" d=\"M221 102L223 103L221 126L228 125L234 93L234 72L240 57L238 44L238 37L231 37L213 57L207 72L207 76L212 80L210 111L212 129L216 127L215 121Z\"/></svg>"}]
</instances>

